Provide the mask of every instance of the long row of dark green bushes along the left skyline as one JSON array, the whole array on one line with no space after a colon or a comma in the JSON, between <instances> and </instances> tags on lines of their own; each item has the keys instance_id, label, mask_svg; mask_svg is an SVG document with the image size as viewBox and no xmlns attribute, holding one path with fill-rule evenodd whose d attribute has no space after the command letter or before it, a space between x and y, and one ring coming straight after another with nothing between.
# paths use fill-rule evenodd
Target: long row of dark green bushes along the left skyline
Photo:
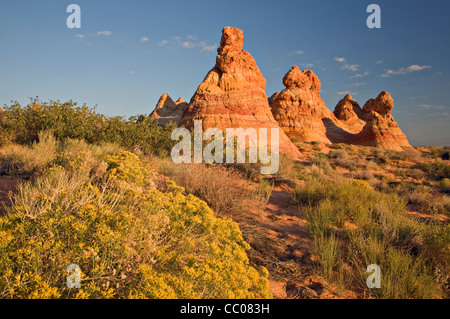
<instances>
[{"instance_id":1,"label":"long row of dark green bushes along the left skyline","mask_svg":"<svg viewBox=\"0 0 450 319\"><path fill-rule=\"evenodd\" d=\"M108 117L76 102L42 102L37 98L22 107L18 102L5 106L0 117L0 145L8 143L31 145L38 133L51 130L58 140L66 138L88 143L116 143L145 154L168 155L174 145L171 133L176 127L159 126L148 117Z\"/></svg>"}]
</instances>

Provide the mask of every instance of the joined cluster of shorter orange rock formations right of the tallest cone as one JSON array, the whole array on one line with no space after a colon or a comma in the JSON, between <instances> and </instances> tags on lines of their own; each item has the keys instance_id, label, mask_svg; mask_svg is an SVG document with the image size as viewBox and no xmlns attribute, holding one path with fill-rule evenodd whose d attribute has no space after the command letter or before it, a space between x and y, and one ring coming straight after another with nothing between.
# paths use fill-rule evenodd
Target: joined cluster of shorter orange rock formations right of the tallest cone
<instances>
[{"instance_id":1,"label":"joined cluster of shorter orange rock formations right of the tallest cone","mask_svg":"<svg viewBox=\"0 0 450 319\"><path fill-rule=\"evenodd\" d=\"M368 100L362 109L347 94L331 112L320 97L320 81L312 71L293 66L283 84L286 88L276 95L272 113L290 138L390 150L411 147L391 115L394 102L387 92Z\"/></svg>"}]
</instances>

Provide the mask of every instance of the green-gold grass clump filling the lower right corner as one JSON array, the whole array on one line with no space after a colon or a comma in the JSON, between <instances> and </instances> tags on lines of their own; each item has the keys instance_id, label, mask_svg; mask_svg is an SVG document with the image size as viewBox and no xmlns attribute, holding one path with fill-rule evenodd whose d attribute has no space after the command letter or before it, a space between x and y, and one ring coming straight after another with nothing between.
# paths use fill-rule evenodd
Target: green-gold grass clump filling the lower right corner
<instances>
[{"instance_id":1,"label":"green-gold grass clump filling the lower right corner","mask_svg":"<svg viewBox=\"0 0 450 319\"><path fill-rule=\"evenodd\" d=\"M445 245L433 241L436 231L432 226L421 225L407 215L406 201L396 194L380 193L363 180L311 179L295 189L292 199L299 204L313 237L313 254L318 260L313 270L338 287L350 284L367 289L365 269L378 264L381 289L367 290L374 297L445 296L435 275L436 269L446 269L440 266L448 256ZM346 222L356 228L343 227ZM440 230L448 236L448 230ZM433 260L429 251L439 251L442 258ZM348 267L353 275L343 271ZM448 269L442 271L448 274Z\"/></svg>"}]
</instances>

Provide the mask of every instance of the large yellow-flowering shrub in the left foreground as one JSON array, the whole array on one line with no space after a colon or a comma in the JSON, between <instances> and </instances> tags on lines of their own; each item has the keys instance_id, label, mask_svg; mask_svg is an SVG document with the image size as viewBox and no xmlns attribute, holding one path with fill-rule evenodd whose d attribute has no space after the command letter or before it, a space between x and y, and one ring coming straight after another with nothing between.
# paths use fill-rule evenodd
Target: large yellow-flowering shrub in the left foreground
<instances>
[{"instance_id":1,"label":"large yellow-flowering shrub in the left foreground","mask_svg":"<svg viewBox=\"0 0 450 319\"><path fill-rule=\"evenodd\" d=\"M0 217L0 297L270 297L237 224L174 182L155 189L132 153L106 161L100 184L75 161L19 186ZM81 269L80 289L66 287L69 264Z\"/></svg>"}]
</instances>

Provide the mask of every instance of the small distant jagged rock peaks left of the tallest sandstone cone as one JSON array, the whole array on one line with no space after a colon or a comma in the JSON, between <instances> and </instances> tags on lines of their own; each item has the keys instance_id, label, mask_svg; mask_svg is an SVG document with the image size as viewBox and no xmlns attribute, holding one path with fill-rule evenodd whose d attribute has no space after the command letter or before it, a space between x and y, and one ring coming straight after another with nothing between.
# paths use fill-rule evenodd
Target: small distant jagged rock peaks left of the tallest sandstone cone
<instances>
[{"instance_id":1,"label":"small distant jagged rock peaks left of the tallest sandstone cone","mask_svg":"<svg viewBox=\"0 0 450 319\"><path fill-rule=\"evenodd\" d=\"M174 102L167 93L164 93L149 116L160 125L166 125L169 121L178 124L187 105L182 97Z\"/></svg>"}]
</instances>

